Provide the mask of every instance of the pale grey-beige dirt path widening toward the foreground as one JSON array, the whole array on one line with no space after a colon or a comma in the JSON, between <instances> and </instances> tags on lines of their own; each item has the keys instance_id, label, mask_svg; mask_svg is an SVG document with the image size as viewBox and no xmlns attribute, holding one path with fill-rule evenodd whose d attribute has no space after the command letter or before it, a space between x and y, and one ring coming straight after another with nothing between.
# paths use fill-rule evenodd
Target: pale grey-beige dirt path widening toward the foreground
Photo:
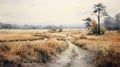
<instances>
[{"instance_id":1,"label":"pale grey-beige dirt path widening toward the foreground","mask_svg":"<svg viewBox=\"0 0 120 67\"><path fill-rule=\"evenodd\" d=\"M28 64L29 67L93 67L91 63L92 54L79 48L66 40L68 48L58 55L56 60L47 64ZM25 65L25 67L28 67Z\"/></svg>"}]
</instances>

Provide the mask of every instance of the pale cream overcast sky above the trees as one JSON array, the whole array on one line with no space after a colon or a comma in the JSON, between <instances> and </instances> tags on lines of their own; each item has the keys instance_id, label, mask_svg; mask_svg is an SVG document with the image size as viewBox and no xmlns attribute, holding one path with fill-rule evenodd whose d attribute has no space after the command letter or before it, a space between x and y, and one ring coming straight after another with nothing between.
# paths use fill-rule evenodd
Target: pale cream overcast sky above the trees
<instances>
[{"instance_id":1,"label":"pale cream overcast sky above the trees","mask_svg":"<svg viewBox=\"0 0 120 67\"><path fill-rule=\"evenodd\" d=\"M0 0L0 22L80 24L97 3L103 3L111 16L120 13L120 0Z\"/></svg>"}]
</instances>

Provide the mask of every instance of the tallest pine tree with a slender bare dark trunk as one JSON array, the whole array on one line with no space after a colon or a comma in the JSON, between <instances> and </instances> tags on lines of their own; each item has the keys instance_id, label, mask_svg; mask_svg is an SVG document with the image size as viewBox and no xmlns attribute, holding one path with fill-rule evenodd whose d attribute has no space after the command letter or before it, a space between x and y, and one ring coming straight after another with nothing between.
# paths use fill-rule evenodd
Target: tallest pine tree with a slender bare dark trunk
<instances>
[{"instance_id":1,"label":"tallest pine tree with a slender bare dark trunk","mask_svg":"<svg viewBox=\"0 0 120 67\"><path fill-rule=\"evenodd\" d=\"M108 13L105 10L105 6L102 3L98 3L94 5L93 14L95 14L98 18L98 34L100 34L100 17L108 16Z\"/></svg>"}]
</instances>

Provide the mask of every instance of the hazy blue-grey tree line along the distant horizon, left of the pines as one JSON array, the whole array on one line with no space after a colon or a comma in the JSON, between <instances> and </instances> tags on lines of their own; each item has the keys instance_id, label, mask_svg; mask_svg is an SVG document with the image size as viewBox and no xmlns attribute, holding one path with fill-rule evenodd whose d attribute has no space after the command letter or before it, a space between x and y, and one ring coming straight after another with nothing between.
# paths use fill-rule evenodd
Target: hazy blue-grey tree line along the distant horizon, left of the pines
<instances>
[{"instance_id":1,"label":"hazy blue-grey tree line along the distant horizon, left of the pines","mask_svg":"<svg viewBox=\"0 0 120 67\"><path fill-rule=\"evenodd\" d=\"M59 31L64 29L81 29L84 28L82 25L58 25ZM51 29L54 28L54 25L18 25L18 24L8 24L8 23L1 23L0 22L0 29Z\"/></svg>"}]
</instances>

